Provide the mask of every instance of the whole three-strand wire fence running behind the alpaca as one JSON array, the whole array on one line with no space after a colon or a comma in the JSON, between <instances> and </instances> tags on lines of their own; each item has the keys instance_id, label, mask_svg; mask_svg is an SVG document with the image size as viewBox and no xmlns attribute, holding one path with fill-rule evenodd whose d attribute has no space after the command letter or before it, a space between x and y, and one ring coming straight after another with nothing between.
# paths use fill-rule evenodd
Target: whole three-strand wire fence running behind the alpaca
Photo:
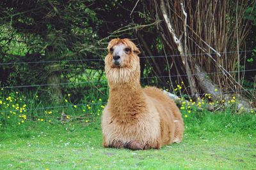
<instances>
[{"instance_id":1,"label":"whole three-strand wire fence running behind the alpaca","mask_svg":"<svg viewBox=\"0 0 256 170\"><path fill-rule=\"evenodd\" d=\"M253 50L244 50L239 51L239 53L246 53L246 52L253 52ZM232 52L219 52L220 54L227 54L227 53L237 53L237 51ZM188 56L196 56L196 55L214 55L216 53L189 53ZM158 56L145 56L140 57L140 59L148 59L148 58L157 58L157 57L179 57L180 55L158 55ZM0 66L8 66L11 64L44 64L44 63L51 63L51 62L87 62L87 61L99 61L104 59L73 59L73 60L42 60L42 61L35 61L35 62L6 62L6 63L0 63ZM154 79L154 78L172 78L177 76L196 76L199 74L223 74L223 73L244 73L249 71L256 71L256 69L244 69L244 70L237 70L237 71L220 71L220 72L212 72L212 73L198 73L198 74L176 74L176 75L165 75L165 76L149 76L141 78L141 80L145 79ZM45 84L38 84L38 85L17 85L17 86L10 86L10 87L0 87L0 89L17 89L17 88L26 88L26 87L47 87L47 86L53 86L53 85L77 85L77 84L86 84L86 83L106 83L107 80L99 80L99 81L75 81L75 82L65 82L65 83L45 83ZM248 90L236 90L236 91L229 91L229 92L222 92L223 94L232 94L234 92L252 92L255 91L255 89L248 89ZM180 95L178 97L193 97L193 96L203 96L204 94L195 94L195 95ZM57 108L68 108L68 107L74 107L74 106L87 106L87 105L102 105L106 104L106 102L101 103L83 103L83 104L67 104L67 105L61 105L61 106L50 106L50 107L42 107L42 108L28 108L26 111L38 111L38 110L52 110ZM0 110L0 112L10 112L13 110Z\"/></svg>"}]
</instances>

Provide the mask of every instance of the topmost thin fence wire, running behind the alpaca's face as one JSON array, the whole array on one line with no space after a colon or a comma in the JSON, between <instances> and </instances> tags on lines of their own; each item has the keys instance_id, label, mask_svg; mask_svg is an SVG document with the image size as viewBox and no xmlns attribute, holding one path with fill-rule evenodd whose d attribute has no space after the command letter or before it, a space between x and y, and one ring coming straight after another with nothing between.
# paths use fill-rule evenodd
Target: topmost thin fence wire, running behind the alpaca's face
<instances>
[{"instance_id":1,"label":"topmost thin fence wire, running behind the alpaca's face","mask_svg":"<svg viewBox=\"0 0 256 170\"><path fill-rule=\"evenodd\" d=\"M253 52L253 50L243 50L238 51L239 53L243 52ZM220 54L225 53L237 53L237 51L230 51L230 52L218 52ZM214 55L214 53L188 53L184 56L196 56L196 55ZM156 56L143 56L140 57L140 59L150 59L150 58L161 58L161 57L179 57L180 54L174 54L174 55L156 55ZM31 61L31 62L6 62L6 63L0 63L0 66L6 66L6 65L13 65L13 64L43 64L43 63L51 63L51 62L86 62L86 61L99 61L104 60L102 59L73 59L73 60L42 60L42 61Z\"/></svg>"}]
</instances>

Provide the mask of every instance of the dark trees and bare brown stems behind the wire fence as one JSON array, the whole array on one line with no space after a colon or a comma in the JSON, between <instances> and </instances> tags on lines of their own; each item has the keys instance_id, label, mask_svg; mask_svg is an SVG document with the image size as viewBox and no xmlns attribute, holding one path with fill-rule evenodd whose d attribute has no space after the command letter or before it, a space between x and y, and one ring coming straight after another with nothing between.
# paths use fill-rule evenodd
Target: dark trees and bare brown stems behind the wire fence
<instances>
[{"instance_id":1,"label":"dark trees and bare brown stems behind the wire fence","mask_svg":"<svg viewBox=\"0 0 256 170\"><path fill-rule=\"evenodd\" d=\"M195 76L194 66L199 66L213 73L205 78L221 92L236 92L253 103L256 71L243 70L256 69L255 2L189 1L184 4L187 20L180 3L3 0L0 85L36 92L54 103L62 103L68 93L74 103L94 93L107 96L103 59L108 41L118 37L130 38L140 48L143 85L175 92L183 81L186 88L177 94L200 96L208 91ZM164 22L164 8L183 53ZM13 86L28 87L8 88Z\"/></svg>"}]
</instances>

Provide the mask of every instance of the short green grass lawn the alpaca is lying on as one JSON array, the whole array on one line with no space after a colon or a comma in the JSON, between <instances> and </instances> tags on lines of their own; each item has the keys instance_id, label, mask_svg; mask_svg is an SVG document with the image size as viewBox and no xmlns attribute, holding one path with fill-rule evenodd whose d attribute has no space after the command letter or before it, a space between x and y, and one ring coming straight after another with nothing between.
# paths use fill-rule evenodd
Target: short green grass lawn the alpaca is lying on
<instances>
[{"instance_id":1,"label":"short green grass lawn the alpaca is lying on","mask_svg":"<svg viewBox=\"0 0 256 170\"><path fill-rule=\"evenodd\" d=\"M161 150L102 148L100 118L2 127L0 169L255 169L256 115L196 112L180 144Z\"/></svg>"}]
</instances>

